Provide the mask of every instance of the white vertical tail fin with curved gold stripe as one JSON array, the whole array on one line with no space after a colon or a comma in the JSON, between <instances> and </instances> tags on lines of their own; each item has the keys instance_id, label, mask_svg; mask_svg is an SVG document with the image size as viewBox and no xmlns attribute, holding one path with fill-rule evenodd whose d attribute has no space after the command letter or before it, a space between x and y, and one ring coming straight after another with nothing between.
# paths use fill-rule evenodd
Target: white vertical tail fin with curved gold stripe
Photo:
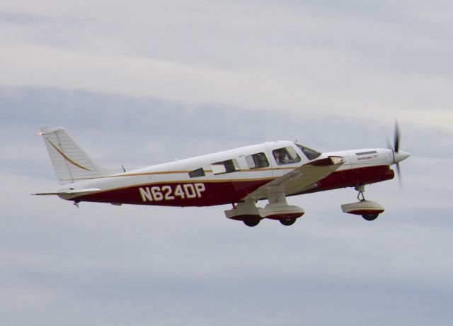
<instances>
[{"instance_id":1,"label":"white vertical tail fin with curved gold stripe","mask_svg":"<svg viewBox=\"0 0 453 326\"><path fill-rule=\"evenodd\" d=\"M115 174L91 159L65 128L40 128L60 185Z\"/></svg>"}]
</instances>

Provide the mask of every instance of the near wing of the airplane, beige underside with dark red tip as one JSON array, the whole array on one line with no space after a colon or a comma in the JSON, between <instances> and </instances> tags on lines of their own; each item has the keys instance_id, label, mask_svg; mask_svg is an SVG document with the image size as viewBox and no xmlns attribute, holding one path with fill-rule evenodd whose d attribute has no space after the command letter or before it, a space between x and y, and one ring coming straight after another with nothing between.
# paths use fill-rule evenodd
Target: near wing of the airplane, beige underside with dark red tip
<instances>
[{"instance_id":1,"label":"near wing of the airplane, beige underside with dark red tip","mask_svg":"<svg viewBox=\"0 0 453 326\"><path fill-rule=\"evenodd\" d=\"M258 201L259 199L270 198L273 194L289 196L300 191L316 188L316 181L324 179L345 162L346 160L343 157L317 159L270 181L264 186L260 186L243 200Z\"/></svg>"}]
</instances>

